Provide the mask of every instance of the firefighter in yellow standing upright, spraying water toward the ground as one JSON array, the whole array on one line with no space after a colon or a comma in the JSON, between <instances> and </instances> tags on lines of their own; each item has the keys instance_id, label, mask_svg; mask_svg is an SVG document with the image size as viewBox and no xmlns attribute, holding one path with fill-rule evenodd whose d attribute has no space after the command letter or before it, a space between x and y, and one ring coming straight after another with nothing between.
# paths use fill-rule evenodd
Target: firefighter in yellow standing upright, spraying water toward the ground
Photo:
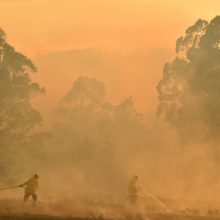
<instances>
[{"instance_id":1,"label":"firefighter in yellow standing upright, spraying water toward the ground","mask_svg":"<svg viewBox=\"0 0 220 220\"><path fill-rule=\"evenodd\" d=\"M128 184L128 196L131 204L135 205L138 198L138 191L141 188L138 186L138 176L134 175Z\"/></svg>"}]
</instances>

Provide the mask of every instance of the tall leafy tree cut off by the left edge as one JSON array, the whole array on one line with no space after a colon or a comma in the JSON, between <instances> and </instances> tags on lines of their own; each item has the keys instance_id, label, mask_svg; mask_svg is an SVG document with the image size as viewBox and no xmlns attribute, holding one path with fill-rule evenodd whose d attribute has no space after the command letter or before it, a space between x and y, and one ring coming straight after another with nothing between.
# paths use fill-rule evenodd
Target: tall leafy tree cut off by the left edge
<instances>
[{"instance_id":1,"label":"tall leafy tree cut off by the left edge","mask_svg":"<svg viewBox=\"0 0 220 220\"><path fill-rule=\"evenodd\" d=\"M14 154L30 143L42 124L40 113L30 103L32 97L45 92L30 79L37 71L30 59L6 41L0 29L0 171L10 167ZM6 169L7 166L7 169Z\"/></svg>"}]
</instances>

